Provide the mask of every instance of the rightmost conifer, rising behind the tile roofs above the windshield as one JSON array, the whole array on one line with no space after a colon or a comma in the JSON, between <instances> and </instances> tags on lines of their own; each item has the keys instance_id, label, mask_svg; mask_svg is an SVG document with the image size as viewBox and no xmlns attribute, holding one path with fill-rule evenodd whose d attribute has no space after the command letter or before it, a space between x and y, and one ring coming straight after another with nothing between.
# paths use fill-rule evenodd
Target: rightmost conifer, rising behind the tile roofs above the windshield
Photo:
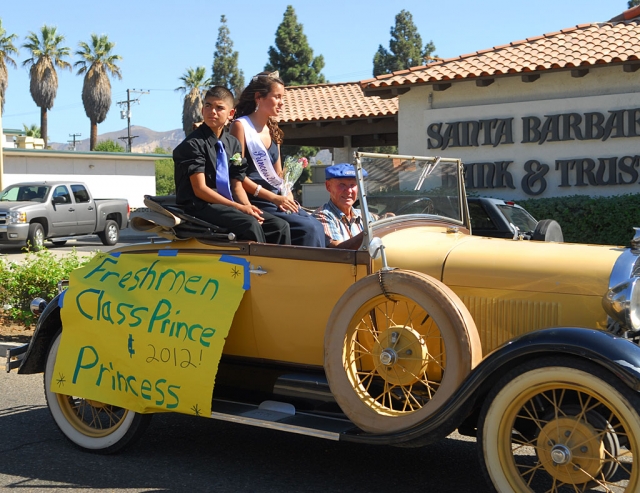
<instances>
[{"instance_id":1,"label":"rightmost conifer, rising behind the tile roofs above the windshield","mask_svg":"<svg viewBox=\"0 0 640 493\"><path fill-rule=\"evenodd\" d=\"M411 12L400 11L390 32L389 50L380 45L373 56L374 77L424 65L425 60L435 56L433 52L436 47L432 41L422 48L422 38L413 23Z\"/></svg>"}]
</instances>

